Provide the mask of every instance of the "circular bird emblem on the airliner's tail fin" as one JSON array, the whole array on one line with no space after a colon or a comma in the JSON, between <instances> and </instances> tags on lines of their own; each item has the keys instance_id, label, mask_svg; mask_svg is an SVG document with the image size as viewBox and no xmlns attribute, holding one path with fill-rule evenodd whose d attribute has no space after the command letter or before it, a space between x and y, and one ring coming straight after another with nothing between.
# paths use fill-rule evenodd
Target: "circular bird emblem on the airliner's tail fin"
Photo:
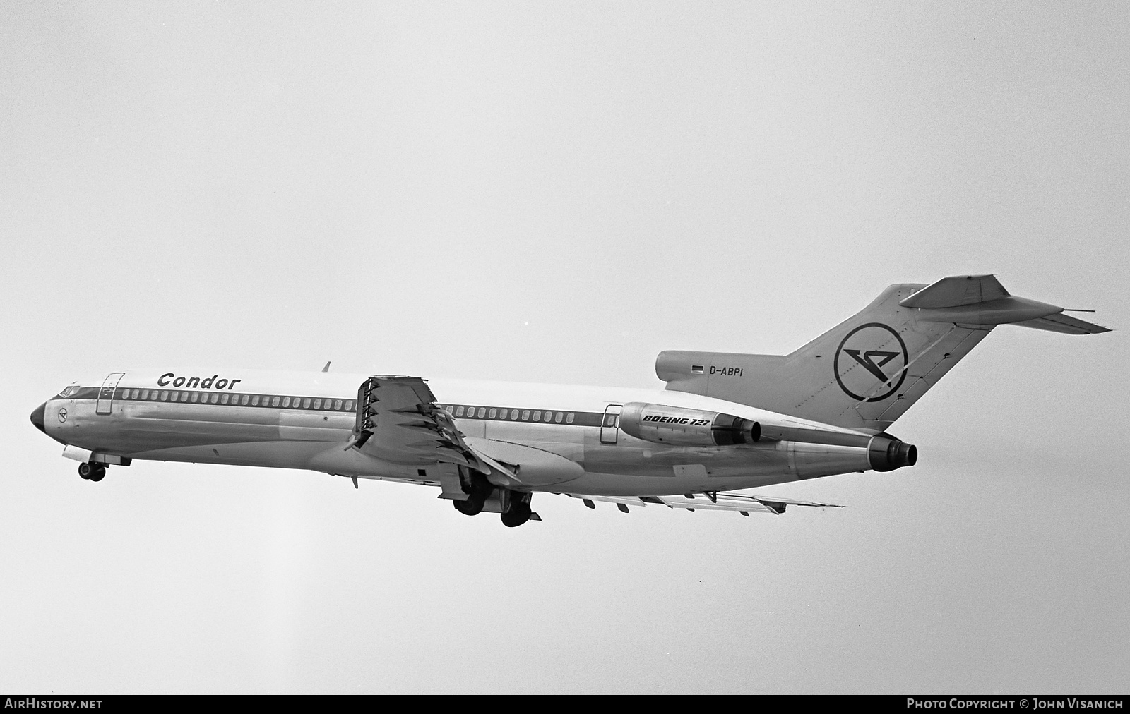
<instances>
[{"instance_id":1,"label":"circular bird emblem on the airliner's tail fin","mask_svg":"<svg viewBox=\"0 0 1130 714\"><path fill-rule=\"evenodd\" d=\"M883 401L906 378L906 343L881 322L862 324L840 342L833 360L840 389L859 401Z\"/></svg>"}]
</instances>

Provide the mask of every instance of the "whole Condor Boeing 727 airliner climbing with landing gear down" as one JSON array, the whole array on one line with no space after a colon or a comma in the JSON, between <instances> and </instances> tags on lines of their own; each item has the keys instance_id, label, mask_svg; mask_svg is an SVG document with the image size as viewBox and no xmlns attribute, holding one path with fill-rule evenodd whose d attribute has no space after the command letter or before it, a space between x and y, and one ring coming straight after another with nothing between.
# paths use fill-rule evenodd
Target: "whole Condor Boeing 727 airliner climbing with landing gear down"
<instances>
[{"instance_id":1,"label":"whole Condor Boeing 727 airliner climbing with landing gear down","mask_svg":"<svg viewBox=\"0 0 1130 714\"><path fill-rule=\"evenodd\" d=\"M789 355L663 351L666 389L253 369L122 369L32 412L101 481L133 460L308 469L440 488L467 515L585 506L781 514L835 506L732 493L914 465L887 429L999 324L1109 332L991 275L898 284ZM1093 312L1093 311L1078 311Z\"/></svg>"}]
</instances>

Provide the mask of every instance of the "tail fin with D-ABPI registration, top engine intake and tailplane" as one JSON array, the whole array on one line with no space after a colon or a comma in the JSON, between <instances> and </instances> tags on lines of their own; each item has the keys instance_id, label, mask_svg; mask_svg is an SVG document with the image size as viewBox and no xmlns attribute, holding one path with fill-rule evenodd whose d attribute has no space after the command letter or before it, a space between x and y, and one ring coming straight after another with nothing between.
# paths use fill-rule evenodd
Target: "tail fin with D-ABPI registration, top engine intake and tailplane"
<instances>
[{"instance_id":1,"label":"tail fin with D-ABPI registration, top engine intake and tailplane","mask_svg":"<svg viewBox=\"0 0 1130 714\"><path fill-rule=\"evenodd\" d=\"M1070 334L1106 328L1009 295L993 276L901 284L785 356L664 351L667 389L884 432L1002 323Z\"/></svg>"}]
</instances>

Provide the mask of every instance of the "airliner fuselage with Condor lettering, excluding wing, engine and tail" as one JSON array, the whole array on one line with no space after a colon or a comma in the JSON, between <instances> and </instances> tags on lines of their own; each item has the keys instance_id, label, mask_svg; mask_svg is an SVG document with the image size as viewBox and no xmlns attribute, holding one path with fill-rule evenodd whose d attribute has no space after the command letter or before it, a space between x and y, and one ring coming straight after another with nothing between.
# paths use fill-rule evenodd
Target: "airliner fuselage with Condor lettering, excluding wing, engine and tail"
<instances>
[{"instance_id":1,"label":"airliner fuselage with Condor lettering, excluding wing, engine and tail","mask_svg":"<svg viewBox=\"0 0 1130 714\"><path fill-rule=\"evenodd\" d=\"M419 463L392 463L347 447L356 424L357 390L367 377L253 369L130 369L68 388L44 404L42 418L51 437L96 454L310 469L438 485ZM498 459L515 449L538 450L580 467L541 476L531 470L523 490L671 495L750 488L871 468L866 447L783 439L730 446L670 445L629 436L612 416L621 404L652 402L724 411L767 424L846 432L698 394L457 380L429 380L428 385L476 450L498 454Z\"/></svg>"}]
</instances>

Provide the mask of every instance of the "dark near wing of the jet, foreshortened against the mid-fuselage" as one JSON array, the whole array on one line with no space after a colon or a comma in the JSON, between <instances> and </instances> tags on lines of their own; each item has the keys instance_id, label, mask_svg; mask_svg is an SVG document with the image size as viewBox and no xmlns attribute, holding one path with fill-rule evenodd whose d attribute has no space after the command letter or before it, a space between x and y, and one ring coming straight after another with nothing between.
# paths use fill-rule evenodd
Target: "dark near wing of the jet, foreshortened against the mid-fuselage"
<instances>
[{"instance_id":1,"label":"dark near wing of the jet, foreshortened against the mid-fuselage","mask_svg":"<svg viewBox=\"0 0 1130 714\"><path fill-rule=\"evenodd\" d=\"M419 377L365 380L357 390L357 420L346 449L393 463L452 463L514 477L511 469L467 445L451 415L436 406L435 394Z\"/></svg>"}]
</instances>

